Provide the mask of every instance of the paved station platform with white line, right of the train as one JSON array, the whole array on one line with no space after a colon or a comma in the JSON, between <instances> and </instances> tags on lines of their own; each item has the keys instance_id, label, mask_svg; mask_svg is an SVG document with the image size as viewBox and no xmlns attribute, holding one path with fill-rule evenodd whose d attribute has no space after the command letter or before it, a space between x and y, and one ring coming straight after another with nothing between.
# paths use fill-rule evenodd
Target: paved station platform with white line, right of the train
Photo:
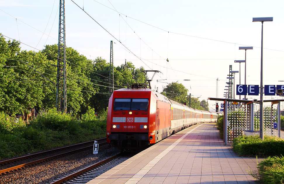
<instances>
[{"instance_id":1,"label":"paved station platform with white line, right of the train","mask_svg":"<svg viewBox=\"0 0 284 184\"><path fill-rule=\"evenodd\" d=\"M257 171L257 159L238 157L224 145L214 125L198 124L177 132L88 184L255 183L248 171Z\"/></svg>"}]
</instances>

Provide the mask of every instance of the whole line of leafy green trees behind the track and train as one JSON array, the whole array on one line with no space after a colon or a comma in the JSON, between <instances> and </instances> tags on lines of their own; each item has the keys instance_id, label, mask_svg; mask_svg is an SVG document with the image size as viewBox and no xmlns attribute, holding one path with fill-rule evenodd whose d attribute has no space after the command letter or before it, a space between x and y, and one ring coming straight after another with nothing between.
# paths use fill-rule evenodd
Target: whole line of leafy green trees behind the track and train
<instances>
[{"instance_id":1,"label":"whole line of leafy green trees behind the track and train","mask_svg":"<svg viewBox=\"0 0 284 184\"><path fill-rule=\"evenodd\" d=\"M0 34L0 112L10 116L55 107L58 45L42 51L21 51L20 42ZM66 48L67 110L80 117L89 107L104 112L112 90L110 65L103 58L89 60L71 47ZM143 67L131 62L114 67L114 90L129 83L148 83ZM111 86L111 87L110 87ZM110 90L110 91L109 91ZM189 103L188 89L172 82L163 93L169 99ZM205 101L192 98L192 107L206 109Z\"/></svg>"}]
</instances>

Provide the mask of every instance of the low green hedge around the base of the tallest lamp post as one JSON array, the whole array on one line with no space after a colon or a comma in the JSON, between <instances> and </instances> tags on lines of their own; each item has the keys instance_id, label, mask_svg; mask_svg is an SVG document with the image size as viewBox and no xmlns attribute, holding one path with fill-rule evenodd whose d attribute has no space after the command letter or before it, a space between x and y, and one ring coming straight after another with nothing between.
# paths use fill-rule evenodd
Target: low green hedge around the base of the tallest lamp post
<instances>
[{"instance_id":1,"label":"low green hedge around the base of the tallest lamp post","mask_svg":"<svg viewBox=\"0 0 284 184\"><path fill-rule=\"evenodd\" d=\"M284 140L276 136L239 136L233 139L233 150L240 156L281 156L284 153Z\"/></svg>"}]
</instances>

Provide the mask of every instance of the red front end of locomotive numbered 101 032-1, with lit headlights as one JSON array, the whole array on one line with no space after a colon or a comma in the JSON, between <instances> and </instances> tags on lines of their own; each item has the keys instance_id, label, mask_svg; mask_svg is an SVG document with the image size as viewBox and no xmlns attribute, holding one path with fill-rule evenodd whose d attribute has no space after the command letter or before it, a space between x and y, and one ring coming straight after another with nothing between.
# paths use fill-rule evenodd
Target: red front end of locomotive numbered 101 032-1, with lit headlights
<instances>
[{"instance_id":1,"label":"red front end of locomotive numbered 101 032-1, with lit headlights","mask_svg":"<svg viewBox=\"0 0 284 184\"><path fill-rule=\"evenodd\" d=\"M151 90L148 88L114 91L108 107L107 142L121 150L147 147L153 140L149 133L153 131L149 126L150 102Z\"/></svg>"}]
</instances>

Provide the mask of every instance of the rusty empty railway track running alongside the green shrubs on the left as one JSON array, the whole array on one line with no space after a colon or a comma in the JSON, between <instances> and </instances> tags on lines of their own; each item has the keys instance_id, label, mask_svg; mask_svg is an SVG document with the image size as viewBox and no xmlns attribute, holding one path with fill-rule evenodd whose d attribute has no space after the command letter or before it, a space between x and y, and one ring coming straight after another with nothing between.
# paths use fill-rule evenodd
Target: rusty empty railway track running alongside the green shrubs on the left
<instances>
[{"instance_id":1,"label":"rusty empty railway track running alongside the green shrubs on the left","mask_svg":"<svg viewBox=\"0 0 284 184\"><path fill-rule=\"evenodd\" d=\"M100 145L102 145L106 143L106 138L98 139L97 141ZM0 175L11 174L17 172L18 169L24 168L26 166L30 166L50 159L68 155L84 149L90 149L93 147L93 142L94 141L92 140L84 143L57 148L54 150L48 150L45 152L35 153L23 157L1 161Z\"/></svg>"}]
</instances>

